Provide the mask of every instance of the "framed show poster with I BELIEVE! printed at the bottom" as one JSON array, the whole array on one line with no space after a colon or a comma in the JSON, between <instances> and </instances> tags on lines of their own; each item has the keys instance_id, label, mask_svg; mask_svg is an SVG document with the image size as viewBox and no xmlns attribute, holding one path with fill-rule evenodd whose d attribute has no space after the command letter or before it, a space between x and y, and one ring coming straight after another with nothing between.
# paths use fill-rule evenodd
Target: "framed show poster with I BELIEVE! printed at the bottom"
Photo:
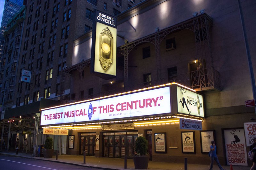
<instances>
[{"instance_id":1,"label":"framed show poster with I BELIEVE! printed at the bottom","mask_svg":"<svg viewBox=\"0 0 256 170\"><path fill-rule=\"evenodd\" d=\"M166 153L166 133L155 133L155 152Z\"/></svg>"}]
</instances>

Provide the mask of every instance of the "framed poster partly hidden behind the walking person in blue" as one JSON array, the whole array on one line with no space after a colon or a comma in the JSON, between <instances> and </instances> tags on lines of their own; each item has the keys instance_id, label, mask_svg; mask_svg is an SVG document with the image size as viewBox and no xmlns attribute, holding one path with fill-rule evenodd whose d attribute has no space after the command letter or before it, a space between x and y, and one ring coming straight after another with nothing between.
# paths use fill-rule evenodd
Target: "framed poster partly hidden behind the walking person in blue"
<instances>
[{"instance_id":1,"label":"framed poster partly hidden behind the walking person in blue","mask_svg":"<svg viewBox=\"0 0 256 170\"><path fill-rule=\"evenodd\" d=\"M202 130L200 131L201 140L201 153L209 153L211 141L215 140L214 130Z\"/></svg>"}]
</instances>

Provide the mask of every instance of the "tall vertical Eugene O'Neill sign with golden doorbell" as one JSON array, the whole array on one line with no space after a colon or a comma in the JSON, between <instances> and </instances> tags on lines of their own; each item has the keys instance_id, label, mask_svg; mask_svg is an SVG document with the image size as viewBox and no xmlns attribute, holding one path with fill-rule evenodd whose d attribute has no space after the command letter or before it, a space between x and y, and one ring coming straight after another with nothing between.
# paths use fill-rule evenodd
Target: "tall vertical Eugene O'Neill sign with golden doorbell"
<instances>
[{"instance_id":1,"label":"tall vertical Eugene O'Neill sign with golden doorbell","mask_svg":"<svg viewBox=\"0 0 256 170\"><path fill-rule=\"evenodd\" d=\"M110 79L116 77L116 17L94 11L91 72Z\"/></svg>"}]
</instances>

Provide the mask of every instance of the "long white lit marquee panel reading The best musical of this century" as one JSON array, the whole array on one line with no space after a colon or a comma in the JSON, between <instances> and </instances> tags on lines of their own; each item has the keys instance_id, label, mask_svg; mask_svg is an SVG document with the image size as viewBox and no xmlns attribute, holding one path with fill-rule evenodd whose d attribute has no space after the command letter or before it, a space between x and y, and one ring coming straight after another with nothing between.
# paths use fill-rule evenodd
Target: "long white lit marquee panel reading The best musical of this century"
<instances>
[{"instance_id":1,"label":"long white lit marquee panel reading The best musical of this century","mask_svg":"<svg viewBox=\"0 0 256 170\"><path fill-rule=\"evenodd\" d=\"M119 119L171 112L170 87L42 110L41 125Z\"/></svg>"}]
</instances>

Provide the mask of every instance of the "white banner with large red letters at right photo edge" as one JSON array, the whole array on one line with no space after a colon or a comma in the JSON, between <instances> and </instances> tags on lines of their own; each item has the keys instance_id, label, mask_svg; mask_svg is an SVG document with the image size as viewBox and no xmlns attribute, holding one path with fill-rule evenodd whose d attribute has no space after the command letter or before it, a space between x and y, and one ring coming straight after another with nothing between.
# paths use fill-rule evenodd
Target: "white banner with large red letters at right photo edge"
<instances>
[{"instance_id":1,"label":"white banner with large red letters at right photo edge","mask_svg":"<svg viewBox=\"0 0 256 170\"><path fill-rule=\"evenodd\" d=\"M244 133L246 146L251 146L253 138L256 138L256 122L244 122Z\"/></svg>"}]
</instances>

